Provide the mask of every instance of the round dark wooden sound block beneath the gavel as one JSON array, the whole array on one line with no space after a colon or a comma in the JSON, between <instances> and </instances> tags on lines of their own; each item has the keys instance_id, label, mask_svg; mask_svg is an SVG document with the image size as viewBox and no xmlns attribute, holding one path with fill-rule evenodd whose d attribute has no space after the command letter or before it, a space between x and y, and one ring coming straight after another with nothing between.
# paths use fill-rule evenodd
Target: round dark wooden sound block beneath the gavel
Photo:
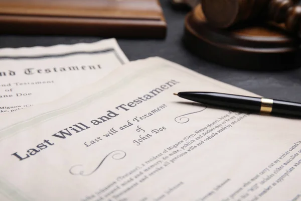
<instances>
[{"instance_id":1,"label":"round dark wooden sound block beneath the gavel","mask_svg":"<svg viewBox=\"0 0 301 201\"><path fill-rule=\"evenodd\" d=\"M201 5L185 20L185 46L217 64L252 70L282 70L301 66L300 40L268 24L243 24L216 29L206 22Z\"/></svg>"}]
</instances>

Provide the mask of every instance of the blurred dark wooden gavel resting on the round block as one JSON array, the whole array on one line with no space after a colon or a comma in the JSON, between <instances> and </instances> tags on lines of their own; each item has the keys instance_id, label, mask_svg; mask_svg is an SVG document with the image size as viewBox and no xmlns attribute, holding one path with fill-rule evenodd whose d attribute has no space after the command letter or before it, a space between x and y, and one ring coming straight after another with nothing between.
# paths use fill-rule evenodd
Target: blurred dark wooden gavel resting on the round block
<instances>
[{"instance_id":1,"label":"blurred dark wooden gavel resting on the round block","mask_svg":"<svg viewBox=\"0 0 301 201\"><path fill-rule=\"evenodd\" d=\"M285 28L301 33L301 6L298 0L202 0L202 9L210 25L228 28L232 25L257 19L284 23Z\"/></svg>"}]
</instances>

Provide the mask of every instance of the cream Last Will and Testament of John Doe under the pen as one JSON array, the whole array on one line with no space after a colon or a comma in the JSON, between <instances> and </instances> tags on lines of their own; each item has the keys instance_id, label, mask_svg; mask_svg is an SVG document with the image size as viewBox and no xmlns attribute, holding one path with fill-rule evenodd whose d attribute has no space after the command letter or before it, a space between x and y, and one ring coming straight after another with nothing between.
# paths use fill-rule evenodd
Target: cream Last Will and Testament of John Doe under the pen
<instances>
[{"instance_id":1,"label":"cream Last Will and Testament of John Doe under the pen","mask_svg":"<svg viewBox=\"0 0 301 201\"><path fill-rule=\"evenodd\" d=\"M149 58L56 102L0 117L0 197L300 199L300 120L173 95L187 90L255 95Z\"/></svg>"}]
</instances>

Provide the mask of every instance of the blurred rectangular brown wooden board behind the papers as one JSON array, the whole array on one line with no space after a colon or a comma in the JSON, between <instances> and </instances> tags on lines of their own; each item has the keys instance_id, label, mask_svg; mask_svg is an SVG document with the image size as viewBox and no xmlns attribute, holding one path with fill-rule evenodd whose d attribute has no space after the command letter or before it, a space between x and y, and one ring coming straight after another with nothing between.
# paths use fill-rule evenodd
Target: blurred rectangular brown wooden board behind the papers
<instances>
[{"instance_id":1,"label":"blurred rectangular brown wooden board behind the papers","mask_svg":"<svg viewBox=\"0 0 301 201\"><path fill-rule=\"evenodd\" d=\"M165 38L158 0L0 0L0 33Z\"/></svg>"}]
</instances>

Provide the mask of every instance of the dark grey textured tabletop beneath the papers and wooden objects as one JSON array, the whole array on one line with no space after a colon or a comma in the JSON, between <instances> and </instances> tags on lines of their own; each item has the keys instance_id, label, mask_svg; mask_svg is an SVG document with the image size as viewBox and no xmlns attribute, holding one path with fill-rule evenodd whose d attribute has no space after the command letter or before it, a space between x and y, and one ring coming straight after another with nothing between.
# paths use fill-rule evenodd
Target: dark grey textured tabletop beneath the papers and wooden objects
<instances>
[{"instance_id":1,"label":"dark grey textured tabletop beneath the papers and wooden objects","mask_svg":"<svg viewBox=\"0 0 301 201\"><path fill-rule=\"evenodd\" d=\"M182 36L186 12L173 10L168 0L161 0L161 4L168 24L166 39L117 39L121 49L129 60L160 56L204 75L265 97L301 102L301 68L280 72L252 72L230 69L206 62L194 56L183 47ZM5 29L5 27L1 27L0 29ZM79 42L95 42L101 39L101 37L0 35L0 48L74 44Z\"/></svg>"}]
</instances>

